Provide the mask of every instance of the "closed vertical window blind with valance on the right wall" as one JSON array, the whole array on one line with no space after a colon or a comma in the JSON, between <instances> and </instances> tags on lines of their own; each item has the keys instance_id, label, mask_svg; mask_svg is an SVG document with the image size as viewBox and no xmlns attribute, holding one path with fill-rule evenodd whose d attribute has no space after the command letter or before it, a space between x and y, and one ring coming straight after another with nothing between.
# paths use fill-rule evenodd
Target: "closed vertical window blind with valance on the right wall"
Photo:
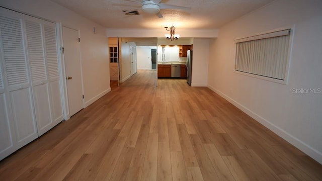
<instances>
[{"instance_id":1,"label":"closed vertical window blind with valance on the right wall","mask_svg":"<svg viewBox=\"0 0 322 181\"><path fill-rule=\"evenodd\" d=\"M235 40L235 70L285 80L289 32L287 29Z\"/></svg>"}]
</instances>

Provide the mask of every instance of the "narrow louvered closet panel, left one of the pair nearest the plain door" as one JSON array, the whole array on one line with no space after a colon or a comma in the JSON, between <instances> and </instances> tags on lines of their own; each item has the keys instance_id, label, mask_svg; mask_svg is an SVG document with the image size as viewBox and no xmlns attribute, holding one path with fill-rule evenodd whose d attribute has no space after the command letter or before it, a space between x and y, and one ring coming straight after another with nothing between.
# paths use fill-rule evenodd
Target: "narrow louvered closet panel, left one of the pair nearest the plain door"
<instances>
[{"instance_id":1,"label":"narrow louvered closet panel, left one of the pair nearest the plain door","mask_svg":"<svg viewBox=\"0 0 322 181\"><path fill-rule=\"evenodd\" d=\"M28 60L33 86L38 135L52 128L48 78L42 38L42 20L26 17Z\"/></svg>"}]
</instances>

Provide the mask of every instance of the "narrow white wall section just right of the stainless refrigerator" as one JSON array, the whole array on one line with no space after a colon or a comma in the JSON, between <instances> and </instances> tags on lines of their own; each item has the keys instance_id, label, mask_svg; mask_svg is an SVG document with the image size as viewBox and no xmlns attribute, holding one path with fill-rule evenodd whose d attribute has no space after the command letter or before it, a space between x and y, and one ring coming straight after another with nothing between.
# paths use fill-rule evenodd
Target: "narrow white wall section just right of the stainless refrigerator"
<instances>
[{"instance_id":1,"label":"narrow white wall section just right of the stainless refrigerator","mask_svg":"<svg viewBox=\"0 0 322 181\"><path fill-rule=\"evenodd\" d=\"M207 86L209 41L208 38L193 39L191 86Z\"/></svg>"}]
</instances>

